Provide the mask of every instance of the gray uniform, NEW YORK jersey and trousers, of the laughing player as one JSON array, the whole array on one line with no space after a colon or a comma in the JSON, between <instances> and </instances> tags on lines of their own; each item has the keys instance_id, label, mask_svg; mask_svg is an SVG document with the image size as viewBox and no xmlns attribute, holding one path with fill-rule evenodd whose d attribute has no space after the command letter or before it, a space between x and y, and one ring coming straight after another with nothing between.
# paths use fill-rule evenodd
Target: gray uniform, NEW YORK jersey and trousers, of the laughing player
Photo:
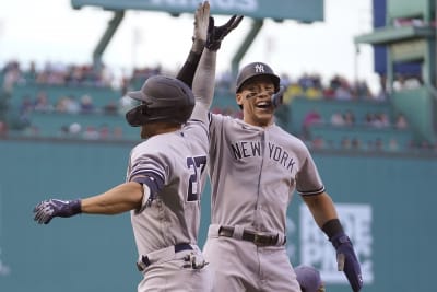
<instances>
[{"instance_id":1,"label":"gray uniform, NEW YORK jersey and trousers, of the laughing player","mask_svg":"<svg viewBox=\"0 0 437 292\"><path fill-rule=\"evenodd\" d=\"M293 191L324 190L307 148L276 125L213 114L210 120L212 224L203 253L215 271L214 291L300 291L283 240L259 247L238 238L241 229L284 238ZM222 226L237 240L221 236Z\"/></svg>"}]
</instances>

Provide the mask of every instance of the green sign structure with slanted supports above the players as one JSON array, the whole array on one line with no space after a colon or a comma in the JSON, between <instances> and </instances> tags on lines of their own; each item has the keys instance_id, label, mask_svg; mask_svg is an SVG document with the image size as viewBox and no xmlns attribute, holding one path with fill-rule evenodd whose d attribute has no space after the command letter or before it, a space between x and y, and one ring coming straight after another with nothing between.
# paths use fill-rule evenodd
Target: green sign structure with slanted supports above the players
<instances>
[{"instance_id":1,"label":"green sign structure with slanted supports above the players","mask_svg":"<svg viewBox=\"0 0 437 292\"><path fill-rule=\"evenodd\" d=\"M127 10L168 12L173 16L192 13L200 0L71 0L74 9L97 7L114 12L114 17L93 52L95 67L102 65L102 56L116 33ZM302 23L321 22L324 20L324 0L210 0L213 15L245 15L253 20L246 37L239 45L233 60L232 72L236 75L238 66L263 25L264 19L276 22L294 20Z\"/></svg>"}]
</instances>

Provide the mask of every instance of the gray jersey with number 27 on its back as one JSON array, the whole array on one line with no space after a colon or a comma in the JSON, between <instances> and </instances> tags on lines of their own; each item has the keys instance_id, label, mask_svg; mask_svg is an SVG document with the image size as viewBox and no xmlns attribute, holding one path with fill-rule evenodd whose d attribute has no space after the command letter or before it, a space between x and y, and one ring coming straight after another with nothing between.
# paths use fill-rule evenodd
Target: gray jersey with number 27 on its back
<instances>
[{"instance_id":1,"label":"gray jersey with number 27 on its back","mask_svg":"<svg viewBox=\"0 0 437 292\"><path fill-rule=\"evenodd\" d=\"M206 154L208 129L194 120L179 131L151 137L131 151L128 182L141 175L164 183L150 207L131 212L139 255L180 243L197 245Z\"/></svg>"}]
</instances>

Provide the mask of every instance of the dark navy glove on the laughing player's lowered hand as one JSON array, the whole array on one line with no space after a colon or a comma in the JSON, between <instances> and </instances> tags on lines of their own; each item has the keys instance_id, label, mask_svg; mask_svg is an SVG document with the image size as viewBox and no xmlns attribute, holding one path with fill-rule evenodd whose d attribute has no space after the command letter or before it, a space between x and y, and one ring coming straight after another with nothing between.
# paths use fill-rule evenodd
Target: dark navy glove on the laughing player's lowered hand
<instances>
[{"instance_id":1,"label":"dark navy glove on the laughing player's lowered hand","mask_svg":"<svg viewBox=\"0 0 437 292\"><path fill-rule=\"evenodd\" d=\"M358 292L363 287L362 269L356 258L351 240L343 232L330 238L336 250L336 264L339 271L344 271L354 292Z\"/></svg>"}]
</instances>

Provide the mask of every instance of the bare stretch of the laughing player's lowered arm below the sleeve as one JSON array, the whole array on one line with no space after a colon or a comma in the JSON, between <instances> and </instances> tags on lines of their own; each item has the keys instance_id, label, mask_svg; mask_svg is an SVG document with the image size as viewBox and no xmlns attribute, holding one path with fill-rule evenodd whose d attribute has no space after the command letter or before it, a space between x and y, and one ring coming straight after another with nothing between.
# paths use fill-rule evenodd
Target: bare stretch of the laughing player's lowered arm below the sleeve
<instances>
[{"instance_id":1,"label":"bare stretch of the laughing player's lowered arm below the sleeve","mask_svg":"<svg viewBox=\"0 0 437 292\"><path fill-rule=\"evenodd\" d=\"M317 196L306 196L304 200L320 229L328 221L339 218L335 206L328 194L323 192Z\"/></svg>"}]
</instances>

